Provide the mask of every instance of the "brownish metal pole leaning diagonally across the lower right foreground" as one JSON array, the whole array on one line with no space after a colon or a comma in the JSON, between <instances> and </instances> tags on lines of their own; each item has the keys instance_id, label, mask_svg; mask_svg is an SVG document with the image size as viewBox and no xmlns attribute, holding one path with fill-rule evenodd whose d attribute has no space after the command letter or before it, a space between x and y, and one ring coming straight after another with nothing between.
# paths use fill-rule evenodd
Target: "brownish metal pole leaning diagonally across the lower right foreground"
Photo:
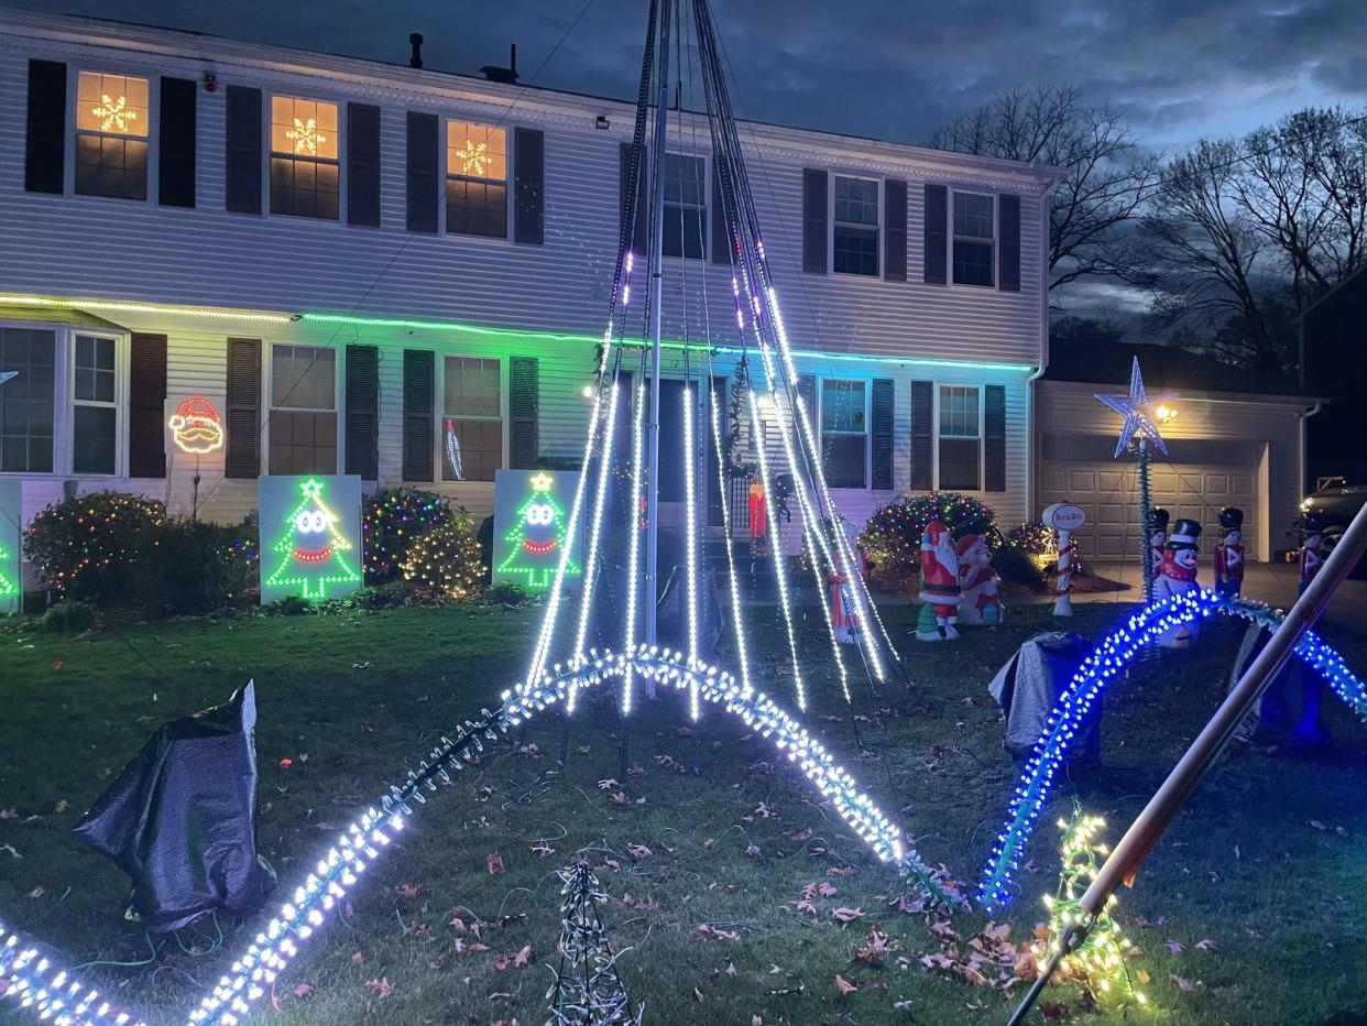
<instances>
[{"instance_id":1,"label":"brownish metal pole leaning diagonally across the lower right foreground","mask_svg":"<svg viewBox=\"0 0 1367 1026\"><path fill-rule=\"evenodd\" d=\"M1215 715L1192 741L1187 754L1167 774L1167 780L1162 782L1111 851L1110 858L1098 870L1087 893L1083 895L1081 910L1085 919L1070 926L1059 938L1058 949L1021 1000L1016 1014L1007 1021L1007 1026L1017 1026L1025 1021L1035 1000L1058 969L1058 963L1083 945L1115 889L1121 884L1133 885L1140 866L1144 865L1144 859L1167 830L1177 811L1191 798L1192 791L1196 789L1196 784L1200 782L1215 757L1229 743L1234 731L1267 689L1278 670L1286 665L1296 643L1319 620L1338 586L1342 584L1364 553L1367 553L1367 505L1357 510L1357 516L1348 525L1342 540L1334 547L1305 592L1296 599L1296 605L1290 607L1286 618L1269 639L1267 646L1244 672L1239 684L1215 710Z\"/></svg>"}]
</instances>

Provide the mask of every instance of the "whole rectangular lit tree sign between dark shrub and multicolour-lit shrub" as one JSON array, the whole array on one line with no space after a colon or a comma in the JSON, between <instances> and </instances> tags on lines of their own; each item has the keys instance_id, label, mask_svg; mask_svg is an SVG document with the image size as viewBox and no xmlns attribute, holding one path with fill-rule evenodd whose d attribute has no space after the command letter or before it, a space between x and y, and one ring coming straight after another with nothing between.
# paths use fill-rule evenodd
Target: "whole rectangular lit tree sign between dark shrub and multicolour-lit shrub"
<instances>
[{"instance_id":1,"label":"whole rectangular lit tree sign between dark shrub and multicolour-lit shrub","mask_svg":"<svg viewBox=\"0 0 1367 1026\"><path fill-rule=\"evenodd\" d=\"M360 476L269 475L258 480L261 605L287 595L321 602L360 588Z\"/></svg>"}]
</instances>

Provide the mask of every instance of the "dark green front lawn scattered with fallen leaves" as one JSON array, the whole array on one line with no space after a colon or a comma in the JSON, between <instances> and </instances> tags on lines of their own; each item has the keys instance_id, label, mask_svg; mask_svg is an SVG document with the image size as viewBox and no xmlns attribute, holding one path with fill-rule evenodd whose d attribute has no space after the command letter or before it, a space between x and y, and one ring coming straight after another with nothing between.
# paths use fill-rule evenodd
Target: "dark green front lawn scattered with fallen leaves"
<instances>
[{"instance_id":1,"label":"dark green front lawn scattered with fallen leaves","mask_svg":"<svg viewBox=\"0 0 1367 1026\"><path fill-rule=\"evenodd\" d=\"M1080 606L1074 627L1099 636L1122 609ZM808 621L811 725L921 855L968 885L1014 778L987 681L1014 646L1051 622L1046 610L1017 606L1006 628L958 646L908 642L910 691L856 695L864 755L822 658L820 617L813 610ZM15 811L0 818L0 918L72 963L145 959L146 938L119 918L124 878L71 828L157 722L221 702L250 677L260 707L260 847L293 889L338 825L443 731L493 705L525 665L539 613L411 609L185 621L75 639L0 633L0 810ZM913 614L886 610L897 637ZM1367 635L1327 633L1351 663L1367 666ZM1077 795L1111 819L1114 840L1214 709L1237 637L1236 627L1217 625L1196 653L1120 681L1103 725L1106 769L1065 782L1055 813ZM763 687L790 700L783 681ZM1143 948L1137 964L1151 975L1150 1010L1126 1018L1367 1022L1367 731L1330 711L1331 755L1273 759L1237 748L1137 888L1122 892L1122 921ZM614 896L603 915L615 943L630 948L619 964L648 1022L1005 1019L1020 988L1009 996L924 967L921 958L940 951L924 918L897 910L895 877L865 856L767 741L709 710L701 777L678 772L690 761L692 740L678 729L685 720L673 695L642 703L625 803L599 787L618 776L610 705L582 706L563 774L554 717L532 725L525 747L499 746L418 807L399 850L305 949L278 984L278 1011L264 1008L262 1018L543 1022L559 928L554 871L585 852ZM282 769L283 758L293 766ZM1057 878L1054 818L1042 821L1023 895L1005 919L1017 941L1042 918L1039 897ZM630 845L649 854L633 858ZM491 876L495 852L506 873ZM798 910L802 888L819 882L837 893L815 896L815 914ZM842 926L833 917L839 907L864 915ZM878 967L854 958L874 922L893 945ZM966 938L983 923L964 912L954 929ZM175 1022L249 933L231 933L217 952L170 944L152 964L89 973L154 1022ZM488 949L458 951L458 938ZM1199 948L1203 940L1211 944ZM526 945L525 967L498 969L499 955ZM858 989L839 995L837 974ZM368 981L392 990L379 997L372 989L385 988ZM1096 1021L1076 990L1055 988L1048 1000L1068 1005L1068 1021ZM0 1022L11 1021L22 1019L0 1003Z\"/></svg>"}]
</instances>

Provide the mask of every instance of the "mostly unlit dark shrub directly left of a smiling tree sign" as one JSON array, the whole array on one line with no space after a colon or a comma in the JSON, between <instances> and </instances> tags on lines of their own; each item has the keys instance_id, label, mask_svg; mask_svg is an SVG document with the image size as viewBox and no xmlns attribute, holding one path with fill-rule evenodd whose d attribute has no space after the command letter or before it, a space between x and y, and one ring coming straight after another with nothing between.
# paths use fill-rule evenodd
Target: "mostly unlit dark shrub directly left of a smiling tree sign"
<instances>
[{"instance_id":1,"label":"mostly unlit dark shrub directly left of a smiling tree sign","mask_svg":"<svg viewBox=\"0 0 1367 1026\"><path fill-rule=\"evenodd\" d=\"M245 595L256 577L256 532L202 520L168 520L159 544L138 565L138 592L149 610L209 613Z\"/></svg>"}]
</instances>

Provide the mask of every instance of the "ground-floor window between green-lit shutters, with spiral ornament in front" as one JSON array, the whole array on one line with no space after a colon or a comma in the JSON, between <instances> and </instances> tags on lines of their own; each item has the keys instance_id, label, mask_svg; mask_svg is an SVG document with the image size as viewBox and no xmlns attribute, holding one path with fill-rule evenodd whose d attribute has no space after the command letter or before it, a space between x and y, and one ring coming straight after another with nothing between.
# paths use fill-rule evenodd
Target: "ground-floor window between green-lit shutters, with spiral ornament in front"
<instances>
[{"instance_id":1,"label":"ground-floor window between green-lit shutters, with spiral ornament in front","mask_svg":"<svg viewBox=\"0 0 1367 1026\"><path fill-rule=\"evenodd\" d=\"M442 480L492 482L503 466L503 383L498 360L446 357Z\"/></svg>"}]
</instances>

